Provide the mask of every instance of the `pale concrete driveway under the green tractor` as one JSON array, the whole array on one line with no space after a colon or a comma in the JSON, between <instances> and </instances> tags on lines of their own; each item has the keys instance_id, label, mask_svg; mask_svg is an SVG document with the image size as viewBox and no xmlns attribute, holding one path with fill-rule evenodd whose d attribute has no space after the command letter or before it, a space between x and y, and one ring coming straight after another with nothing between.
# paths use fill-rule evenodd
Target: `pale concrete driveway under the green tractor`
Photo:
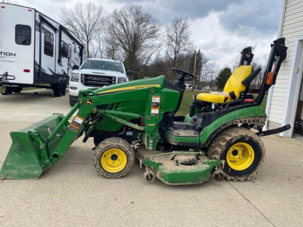
<instances>
[{"instance_id":1,"label":"pale concrete driveway under the green tractor","mask_svg":"<svg viewBox=\"0 0 303 227\"><path fill-rule=\"evenodd\" d=\"M68 95L54 98L51 90L0 95L0 165L11 131L69 109ZM303 142L278 136L263 141L265 164L250 181L167 186L144 181L138 163L122 179L98 176L92 141L78 140L39 180L0 181L0 226L303 225Z\"/></svg>"}]
</instances>

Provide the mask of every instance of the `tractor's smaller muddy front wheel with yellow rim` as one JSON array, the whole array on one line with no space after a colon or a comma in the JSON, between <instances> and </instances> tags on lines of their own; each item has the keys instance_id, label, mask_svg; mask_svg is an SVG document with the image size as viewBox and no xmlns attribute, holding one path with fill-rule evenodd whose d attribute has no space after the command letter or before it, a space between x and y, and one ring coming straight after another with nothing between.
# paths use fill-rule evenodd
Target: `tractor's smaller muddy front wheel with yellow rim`
<instances>
[{"instance_id":1,"label":"tractor's smaller muddy front wheel with yellow rim","mask_svg":"<svg viewBox=\"0 0 303 227\"><path fill-rule=\"evenodd\" d=\"M108 138L96 147L93 163L97 172L106 178L121 178L131 169L135 151L121 138Z\"/></svg>"}]
</instances>

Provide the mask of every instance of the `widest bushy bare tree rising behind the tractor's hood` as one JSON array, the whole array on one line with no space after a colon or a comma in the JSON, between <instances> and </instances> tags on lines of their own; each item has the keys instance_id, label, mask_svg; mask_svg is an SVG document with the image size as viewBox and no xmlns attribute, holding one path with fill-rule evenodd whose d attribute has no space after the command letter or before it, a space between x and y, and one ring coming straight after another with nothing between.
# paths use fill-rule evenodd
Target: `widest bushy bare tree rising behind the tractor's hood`
<instances>
[{"instance_id":1,"label":"widest bushy bare tree rising behind the tractor's hood","mask_svg":"<svg viewBox=\"0 0 303 227\"><path fill-rule=\"evenodd\" d=\"M123 50L124 64L132 70L146 64L157 51L155 42L159 29L158 21L138 5L114 10L106 26L107 33L118 41Z\"/></svg>"}]
</instances>

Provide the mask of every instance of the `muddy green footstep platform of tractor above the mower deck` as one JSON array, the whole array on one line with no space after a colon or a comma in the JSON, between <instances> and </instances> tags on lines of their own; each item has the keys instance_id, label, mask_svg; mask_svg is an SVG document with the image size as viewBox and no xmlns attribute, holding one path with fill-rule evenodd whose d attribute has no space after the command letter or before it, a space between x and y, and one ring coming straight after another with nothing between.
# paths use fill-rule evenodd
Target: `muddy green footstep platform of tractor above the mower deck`
<instances>
[{"instance_id":1,"label":"muddy green footstep platform of tractor above the mower deck","mask_svg":"<svg viewBox=\"0 0 303 227\"><path fill-rule=\"evenodd\" d=\"M199 146L199 133L195 130L175 129L165 132L165 139L173 144L180 146Z\"/></svg>"}]
</instances>

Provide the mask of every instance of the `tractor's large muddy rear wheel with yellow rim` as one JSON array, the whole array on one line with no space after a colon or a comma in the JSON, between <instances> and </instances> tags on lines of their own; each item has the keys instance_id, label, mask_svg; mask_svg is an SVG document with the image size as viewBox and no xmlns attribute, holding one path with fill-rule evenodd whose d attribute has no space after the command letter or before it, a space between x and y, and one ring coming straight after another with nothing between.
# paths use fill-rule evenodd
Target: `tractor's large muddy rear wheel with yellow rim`
<instances>
[{"instance_id":1,"label":"tractor's large muddy rear wheel with yellow rim","mask_svg":"<svg viewBox=\"0 0 303 227\"><path fill-rule=\"evenodd\" d=\"M265 147L254 132L232 126L215 136L207 155L225 161L223 171L227 180L244 181L250 180L261 168Z\"/></svg>"}]
</instances>

